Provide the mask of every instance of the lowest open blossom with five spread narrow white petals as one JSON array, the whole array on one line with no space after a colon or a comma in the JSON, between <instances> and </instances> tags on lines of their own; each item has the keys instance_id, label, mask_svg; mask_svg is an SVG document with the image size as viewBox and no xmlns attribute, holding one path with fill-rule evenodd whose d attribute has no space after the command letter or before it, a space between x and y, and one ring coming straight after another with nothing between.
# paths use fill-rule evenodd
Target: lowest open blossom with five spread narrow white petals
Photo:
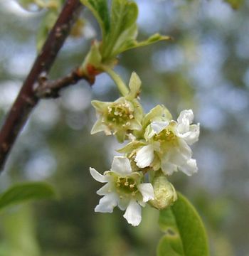
<instances>
[{"instance_id":1,"label":"lowest open blossom with five spread narrow white petals","mask_svg":"<svg viewBox=\"0 0 249 256\"><path fill-rule=\"evenodd\" d=\"M154 199L154 191L151 183L142 183L142 174L132 172L129 159L124 156L115 156L110 171L104 175L90 168L92 178L101 183L106 183L97 191L103 196L100 203L95 207L95 212L112 213L113 208L118 206L125 210L124 218L134 226L141 222L141 207Z\"/></svg>"}]
</instances>

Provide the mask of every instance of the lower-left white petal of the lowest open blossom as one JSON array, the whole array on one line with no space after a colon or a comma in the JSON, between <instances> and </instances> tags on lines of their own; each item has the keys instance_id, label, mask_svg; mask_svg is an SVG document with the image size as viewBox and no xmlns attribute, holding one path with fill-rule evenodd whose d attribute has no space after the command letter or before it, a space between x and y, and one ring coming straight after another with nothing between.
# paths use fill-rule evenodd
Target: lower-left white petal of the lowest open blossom
<instances>
[{"instance_id":1,"label":"lower-left white petal of the lowest open blossom","mask_svg":"<svg viewBox=\"0 0 249 256\"><path fill-rule=\"evenodd\" d=\"M95 212L112 213L113 208L117 206L119 198L116 193L109 193L100 199L100 203L95 207Z\"/></svg>"}]
</instances>

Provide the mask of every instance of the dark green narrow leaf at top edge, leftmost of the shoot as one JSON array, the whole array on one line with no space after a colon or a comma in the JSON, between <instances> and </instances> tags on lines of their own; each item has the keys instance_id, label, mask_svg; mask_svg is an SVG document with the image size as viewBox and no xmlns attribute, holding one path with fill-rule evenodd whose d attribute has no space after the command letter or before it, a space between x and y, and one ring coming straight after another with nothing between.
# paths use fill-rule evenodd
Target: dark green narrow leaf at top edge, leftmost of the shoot
<instances>
[{"instance_id":1,"label":"dark green narrow leaf at top edge, leftmost of the shoot","mask_svg":"<svg viewBox=\"0 0 249 256\"><path fill-rule=\"evenodd\" d=\"M107 0L81 0L81 2L92 11L92 14L100 24L102 38L105 38L110 30L110 15Z\"/></svg>"}]
</instances>

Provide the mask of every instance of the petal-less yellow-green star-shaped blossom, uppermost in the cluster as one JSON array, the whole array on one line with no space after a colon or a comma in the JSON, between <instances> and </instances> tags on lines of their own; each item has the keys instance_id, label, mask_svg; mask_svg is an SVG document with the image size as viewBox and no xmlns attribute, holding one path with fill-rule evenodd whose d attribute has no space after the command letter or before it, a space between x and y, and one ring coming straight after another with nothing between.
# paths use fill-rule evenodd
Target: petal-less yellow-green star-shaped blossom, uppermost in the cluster
<instances>
[{"instance_id":1,"label":"petal-less yellow-green star-shaped blossom, uppermost in the cluster","mask_svg":"<svg viewBox=\"0 0 249 256\"><path fill-rule=\"evenodd\" d=\"M136 73L132 73L129 80L129 93L115 102L92 101L97 112L97 121L92 127L91 134L105 132L106 135L115 134L119 142L124 142L133 130L142 129L142 106L137 100L141 81Z\"/></svg>"}]
</instances>

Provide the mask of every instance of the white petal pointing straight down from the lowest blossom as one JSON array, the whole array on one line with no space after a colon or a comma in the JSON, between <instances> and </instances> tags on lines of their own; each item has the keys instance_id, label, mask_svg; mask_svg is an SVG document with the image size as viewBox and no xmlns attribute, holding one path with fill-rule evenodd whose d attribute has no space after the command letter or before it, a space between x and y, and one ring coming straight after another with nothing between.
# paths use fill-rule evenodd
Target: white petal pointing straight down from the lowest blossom
<instances>
[{"instance_id":1,"label":"white petal pointing straight down from the lowest blossom","mask_svg":"<svg viewBox=\"0 0 249 256\"><path fill-rule=\"evenodd\" d=\"M127 222L133 226L137 226L141 222L141 207L136 201L134 201L134 199L129 202L129 206L123 216Z\"/></svg>"}]
</instances>

